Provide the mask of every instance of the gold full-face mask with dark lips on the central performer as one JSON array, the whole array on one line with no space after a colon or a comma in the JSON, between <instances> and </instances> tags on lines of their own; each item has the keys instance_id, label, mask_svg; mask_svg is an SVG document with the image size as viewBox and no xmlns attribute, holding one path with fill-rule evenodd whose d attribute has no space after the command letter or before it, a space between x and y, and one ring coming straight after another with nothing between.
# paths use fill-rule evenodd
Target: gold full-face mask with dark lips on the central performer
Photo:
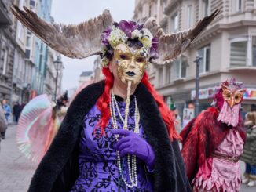
<instances>
[{"instance_id":1,"label":"gold full-face mask with dark lips on the central performer","mask_svg":"<svg viewBox=\"0 0 256 192\"><path fill-rule=\"evenodd\" d=\"M141 82L148 63L148 49L144 47L136 49L126 44L119 44L115 47L113 62L123 83L131 81L132 84L137 84Z\"/></svg>"}]
</instances>

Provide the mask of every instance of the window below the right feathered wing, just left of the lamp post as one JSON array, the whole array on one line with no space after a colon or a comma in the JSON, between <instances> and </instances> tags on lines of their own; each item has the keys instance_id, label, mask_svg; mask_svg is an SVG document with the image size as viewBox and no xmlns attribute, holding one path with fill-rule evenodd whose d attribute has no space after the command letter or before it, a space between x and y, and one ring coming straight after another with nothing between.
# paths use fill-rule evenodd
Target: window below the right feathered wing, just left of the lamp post
<instances>
[{"instance_id":1,"label":"window below the right feathered wing, just left of the lamp post","mask_svg":"<svg viewBox=\"0 0 256 192\"><path fill-rule=\"evenodd\" d=\"M174 60L171 66L170 78L172 81L179 78L185 78L187 75L187 60L185 56L181 56L177 60Z\"/></svg>"}]
</instances>

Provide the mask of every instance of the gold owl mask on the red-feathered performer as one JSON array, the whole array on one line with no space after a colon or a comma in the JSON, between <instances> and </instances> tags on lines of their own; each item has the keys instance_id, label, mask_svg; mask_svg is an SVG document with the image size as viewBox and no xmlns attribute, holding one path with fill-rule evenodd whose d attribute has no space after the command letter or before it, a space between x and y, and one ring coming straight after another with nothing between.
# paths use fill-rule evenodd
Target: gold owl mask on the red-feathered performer
<instances>
[{"instance_id":1,"label":"gold owl mask on the red-feathered performer","mask_svg":"<svg viewBox=\"0 0 256 192\"><path fill-rule=\"evenodd\" d=\"M229 87L225 85L221 85L221 88L223 90L222 96L224 100L229 103L230 107L240 103L243 99L243 92L245 91L244 89L229 89Z\"/></svg>"}]
</instances>

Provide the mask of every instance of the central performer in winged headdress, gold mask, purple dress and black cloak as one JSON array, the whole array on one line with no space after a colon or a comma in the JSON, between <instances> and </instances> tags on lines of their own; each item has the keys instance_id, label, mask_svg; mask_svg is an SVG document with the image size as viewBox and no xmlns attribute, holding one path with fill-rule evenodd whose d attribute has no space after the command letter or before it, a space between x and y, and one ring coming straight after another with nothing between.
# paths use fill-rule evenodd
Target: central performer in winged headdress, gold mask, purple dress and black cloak
<instances>
[{"instance_id":1,"label":"central performer in winged headdress, gold mask, purple dress and black cloak","mask_svg":"<svg viewBox=\"0 0 256 192\"><path fill-rule=\"evenodd\" d=\"M145 68L149 60L174 60L217 12L192 30L164 34L152 18L144 25L112 24L108 11L64 26L47 24L28 9L12 10L65 56L101 54L105 75L71 103L29 191L190 191L170 110Z\"/></svg>"}]
</instances>

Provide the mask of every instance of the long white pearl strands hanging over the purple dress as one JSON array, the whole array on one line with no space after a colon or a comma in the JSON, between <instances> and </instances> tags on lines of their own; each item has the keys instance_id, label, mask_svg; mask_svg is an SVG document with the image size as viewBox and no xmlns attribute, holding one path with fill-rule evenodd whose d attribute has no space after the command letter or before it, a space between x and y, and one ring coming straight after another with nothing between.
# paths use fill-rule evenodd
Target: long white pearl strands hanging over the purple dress
<instances>
[{"instance_id":1,"label":"long white pearl strands hanging over the purple dress","mask_svg":"<svg viewBox=\"0 0 256 192\"><path fill-rule=\"evenodd\" d=\"M110 114L112 117L112 123L113 123L113 128L114 129L118 129L117 126L117 122L116 122L116 118L115 118L115 106L116 109L118 111L118 114L121 118L121 120L123 121L123 117L120 113L119 107L118 107L118 103L115 100L115 96L113 93L113 90L111 91L111 102L110 102ZM135 113L134 113L134 118L135 118L135 128L134 128L134 132L135 133L139 133L139 121L140 121L140 114L139 114L139 110L137 107L137 100L136 97L134 97L135 100ZM124 121L123 121L124 123ZM119 139L118 135L115 135L115 139L118 141ZM120 158L120 153L119 151L116 151L117 154L117 164L119 167L119 174L122 176L123 182L126 184L127 187L129 188L133 188L133 187L137 187L137 162L136 162L136 156L132 155L132 165L130 165L130 154L127 154L127 164L128 164L128 173L129 173L129 178L130 178L130 182L131 184L127 183L126 180L124 179L123 176L123 172L122 172L122 166L121 166L121 158ZM128 180L128 179L127 179Z\"/></svg>"}]
</instances>

